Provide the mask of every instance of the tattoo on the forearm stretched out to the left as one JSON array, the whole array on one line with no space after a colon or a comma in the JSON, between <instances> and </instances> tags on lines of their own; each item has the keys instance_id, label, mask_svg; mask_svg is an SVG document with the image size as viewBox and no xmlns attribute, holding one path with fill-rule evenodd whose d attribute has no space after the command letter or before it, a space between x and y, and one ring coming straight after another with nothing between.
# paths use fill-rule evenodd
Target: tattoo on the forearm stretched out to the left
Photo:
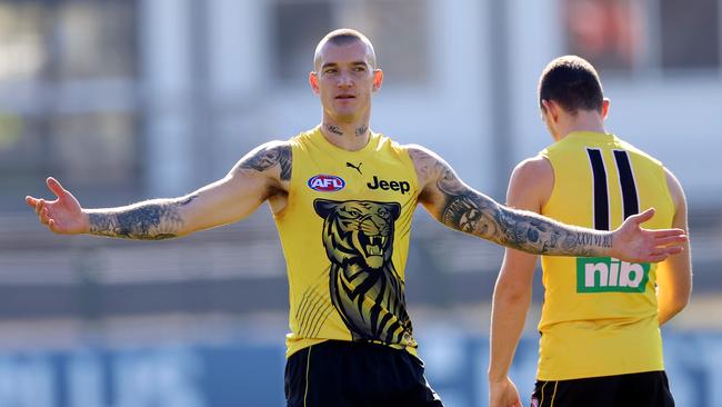
<instances>
[{"instance_id":1,"label":"tattoo on the forearm stretched out to the left","mask_svg":"<svg viewBox=\"0 0 722 407\"><path fill-rule=\"evenodd\" d=\"M90 212L90 234L140 240L162 240L179 236L183 220L179 208L198 196L156 200L127 209Z\"/></svg>"}]
</instances>

